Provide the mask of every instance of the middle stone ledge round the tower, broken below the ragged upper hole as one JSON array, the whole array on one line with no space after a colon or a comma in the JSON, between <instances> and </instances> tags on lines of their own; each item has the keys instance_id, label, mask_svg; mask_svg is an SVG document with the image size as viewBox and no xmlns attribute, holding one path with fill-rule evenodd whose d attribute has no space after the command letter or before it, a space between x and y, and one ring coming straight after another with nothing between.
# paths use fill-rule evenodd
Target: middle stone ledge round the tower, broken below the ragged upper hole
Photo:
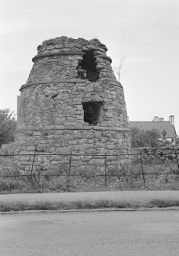
<instances>
[{"instance_id":1,"label":"middle stone ledge round the tower, broken below the ragged upper hole","mask_svg":"<svg viewBox=\"0 0 179 256\"><path fill-rule=\"evenodd\" d=\"M100 79L99 83L105 82L105 81L110 81L110 84L112 86L119 86L121 88L123 88L123 86L121 85L120 82L115 82L111 79ZM21 86L21 88L19 89L21 91L21 89L27 88L29 86L35 86L35 85L46 85L46 86L50 86L50 84L58 84L58 83L87 83L86 80L82 80L82 79L62 79L59 81L50 81L50 82L38 82L38 83L25 83L24 85ZM92 84L92 83L88 83L88 84Z\"/></svg>"}]
</instances>

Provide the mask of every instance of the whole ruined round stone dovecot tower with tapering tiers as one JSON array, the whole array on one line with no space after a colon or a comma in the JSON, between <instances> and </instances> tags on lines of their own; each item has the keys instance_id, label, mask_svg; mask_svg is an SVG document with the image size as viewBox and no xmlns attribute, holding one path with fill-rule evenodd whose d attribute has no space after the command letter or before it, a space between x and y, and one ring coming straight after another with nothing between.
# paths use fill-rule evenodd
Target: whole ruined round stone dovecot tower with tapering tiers
<instances>
[{"instance_id":1,"label":"whole ruined round stone dovecot tower with tapering tiers","mask_svg":"<svg viewBox=\"0 0 179 256\"><path fill-rule=\"evenodd\" d=\"M127 156L117 157L128 152L130 133L123 87L107 47L97 39L56 37L37 50L20 89L17 153L42 154L34 170L65 168L69 155L60 154L71 152L74 171L104 170L102 154L113 155L107 156L107 170L129 163ZM18 157L21 170L31 164L32 157Z\"/></svg>"}]
</instances>

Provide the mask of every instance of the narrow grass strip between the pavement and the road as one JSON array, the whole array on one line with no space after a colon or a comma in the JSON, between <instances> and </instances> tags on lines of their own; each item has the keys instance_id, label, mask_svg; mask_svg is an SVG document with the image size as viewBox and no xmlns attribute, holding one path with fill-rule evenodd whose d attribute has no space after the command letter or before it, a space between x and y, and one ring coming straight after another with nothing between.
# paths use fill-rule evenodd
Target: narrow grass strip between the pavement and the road
<instances>
[{"instance_id":1,"label":"narrow grass strip between the pavement and the road","mask_svg":"<svg viewBox=\"0 0 179 256\"><path fill-rule=\"evenodd\" d=\"M129 209L129 208L166 208L179 206L179 200L163 200L153 199L149 202L117 202L112 200L97 200L97 201L75 201L75 202L14 202L14 203L1 203L0 212L18 212L29 210L69 210L69 209Z\"/></svg>"}]
</instances>

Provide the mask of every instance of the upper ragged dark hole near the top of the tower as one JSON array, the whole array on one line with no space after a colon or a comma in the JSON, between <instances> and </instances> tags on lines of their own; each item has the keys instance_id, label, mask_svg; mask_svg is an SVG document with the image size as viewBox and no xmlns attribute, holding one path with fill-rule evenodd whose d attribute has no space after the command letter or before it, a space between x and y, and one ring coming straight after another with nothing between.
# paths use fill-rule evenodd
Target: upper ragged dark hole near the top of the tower
<instances>
[{"instance_id":1,"label":"upper ragged dark hole near the top of the tower","mask_svg":"<svg viewBox=\"0 0 179 256\"><path fill-rule=\"evenodd\" d=\"M96 82L99 79L100 72L96 68L95 57L93 50L88 50L83 55L82 61L77 66L78 77L88 79L91 82Z\"/></svg>"}]
</instances>

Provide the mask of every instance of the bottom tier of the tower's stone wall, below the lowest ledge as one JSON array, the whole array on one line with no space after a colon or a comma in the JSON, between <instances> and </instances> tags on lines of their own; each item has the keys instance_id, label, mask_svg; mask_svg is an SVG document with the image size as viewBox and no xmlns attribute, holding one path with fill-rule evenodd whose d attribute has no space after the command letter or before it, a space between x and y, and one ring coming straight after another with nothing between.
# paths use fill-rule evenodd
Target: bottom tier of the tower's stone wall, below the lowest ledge
<instances>
[{"instance_id":1,"label":"bottom tier of the tower's stone wall, below the lowest ledge","mask_svg":"<svg viewBox=\"0 0 179 256\"><path fill-rule=\"evenodd\" d=\"M21 155L15 162L22 173L32 171L33 160L33 172L62 174L70 169L71 174L88 175L113 173L130 163L129 156L120 155L128 154L129 131L23 129L20 134L16 154Z\"/></svg>"}]
</instances>

